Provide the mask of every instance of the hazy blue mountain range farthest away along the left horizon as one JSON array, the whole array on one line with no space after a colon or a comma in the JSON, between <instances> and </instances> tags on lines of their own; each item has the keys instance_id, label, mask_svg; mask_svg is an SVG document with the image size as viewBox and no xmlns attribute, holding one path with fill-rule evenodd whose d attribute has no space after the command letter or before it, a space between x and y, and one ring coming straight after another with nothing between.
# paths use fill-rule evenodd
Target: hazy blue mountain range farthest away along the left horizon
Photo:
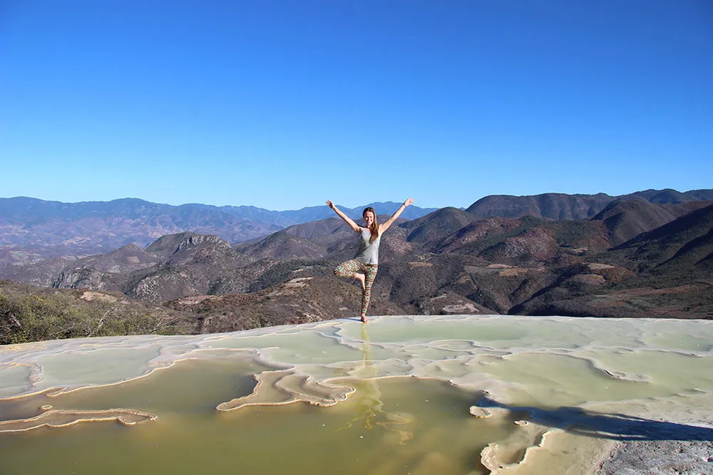
<instances>
[{"instance_id":1,"label":"hazy blue mountain range farthest away along the left horizon","mask_svg":"<svg viewBox=\"0 0 713 475\"><path fill-rule=\"evenodd\" d=\"M379 214L392 214L400 205L379 202L364 207L374 207ZM340 209L359 218L364 207ZM411 206L403 216L414 219L435 209ZM329 216L334 216L334 212L326 205L278 212L250 206L172 206L133 198L80 203L0 198L0 249L26 251L34 259L81 256L126 244L145 247L160 236L183 231L215 234L229 242L240 242Z\"/></svg>"}]
</instances>

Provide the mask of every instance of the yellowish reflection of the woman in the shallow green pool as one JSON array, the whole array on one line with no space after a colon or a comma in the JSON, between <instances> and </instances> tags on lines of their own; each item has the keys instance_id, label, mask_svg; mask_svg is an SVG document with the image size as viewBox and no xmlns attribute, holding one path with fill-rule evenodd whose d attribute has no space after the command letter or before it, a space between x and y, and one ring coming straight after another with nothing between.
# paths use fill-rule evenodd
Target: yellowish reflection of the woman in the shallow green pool
<instances>
[{"instance_id":1,"label":"yellowish reflection of the woman in the shallow green pool","mask_svg":"<svg viewBox=\"0 0 713 475\"><path fill-rule=\"evenodd\" d=\"M361 421L364 424L364 429L383 427L399 434L401 444L409 442L414 436L413 429L410 427L413 425L414 418L411 414L384 410L384 402L381 401L381 390L379 390L377 382L379 372L371 358L371 342L364 323L361 324L361 362L352 374L355 377L354 386L356 389L352 397L356 398L357 414L356 417L347 421L342 429L348 429L356 422Z\"/></svg>"}]
</instances>

